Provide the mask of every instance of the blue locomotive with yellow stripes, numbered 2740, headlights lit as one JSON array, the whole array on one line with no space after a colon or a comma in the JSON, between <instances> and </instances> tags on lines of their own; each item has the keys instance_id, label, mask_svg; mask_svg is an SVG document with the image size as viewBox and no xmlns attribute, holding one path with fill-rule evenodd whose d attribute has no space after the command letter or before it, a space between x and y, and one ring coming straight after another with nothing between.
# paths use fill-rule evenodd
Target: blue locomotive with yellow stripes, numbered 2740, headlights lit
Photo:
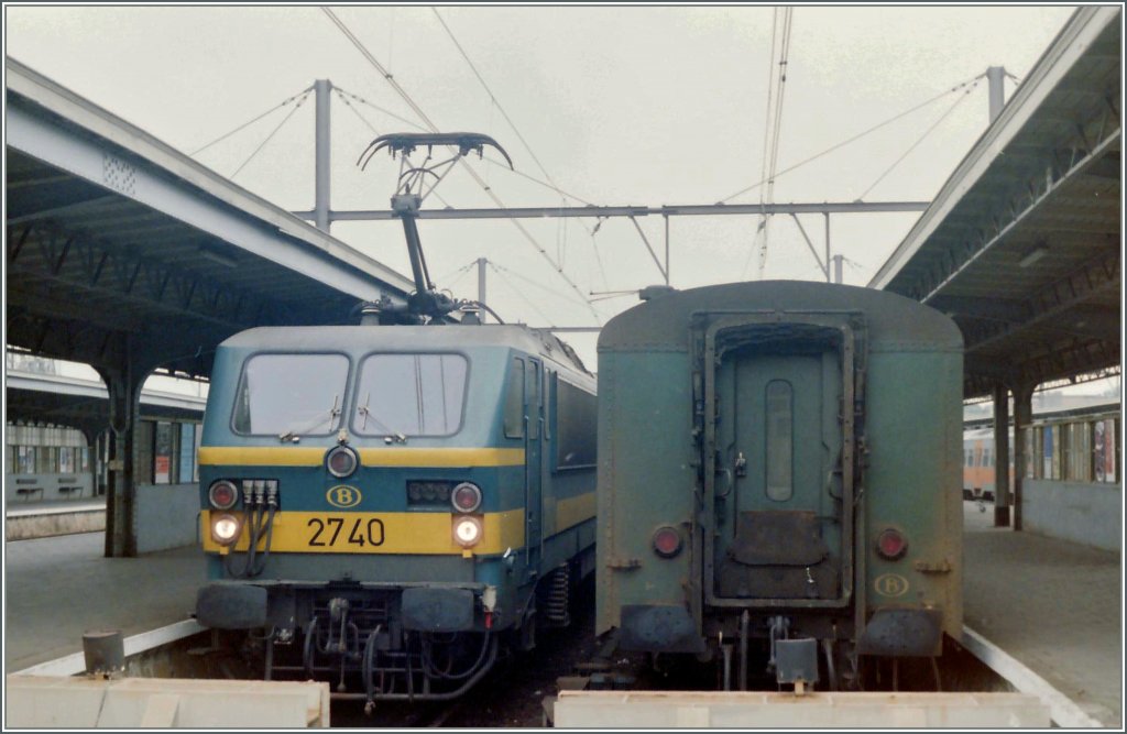
<instances>
[{"instance_id":1,"label":"blue locomotive with yellow stripes, numbered 2740, headlights lit","mask_svg":"<svg viewBox=\"0 0 1127 734\"><path fill-rule=\"evenodd\" d=\"M595 381L522 326L256 328L199 448L208 583L267 678L443 699L568 621L594 569Z\"/></svg>"}]
</instances>

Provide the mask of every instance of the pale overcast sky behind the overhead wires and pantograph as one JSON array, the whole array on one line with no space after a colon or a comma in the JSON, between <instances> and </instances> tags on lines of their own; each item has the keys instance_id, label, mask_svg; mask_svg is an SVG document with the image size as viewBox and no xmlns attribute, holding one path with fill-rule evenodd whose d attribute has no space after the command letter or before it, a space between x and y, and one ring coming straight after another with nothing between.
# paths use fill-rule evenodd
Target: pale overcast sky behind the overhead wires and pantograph
<instances>
[{"instance_id":1,"label":"pale overcast sky behind the overhead wires and pantograph","mask_svg":"<svg viewBox=\"0 0 1127 734\"><path fill-rule=\"evenodd\" d=\"M729 197L756 184L763 168L769 81L779 61L778 47L772 55L772 7L436 12L429 6L343 6L334 12L441 130L490 134L517 171L541 182L551 177L577 197L474 157L472 166L507 206L760 201L761 188ZM1072 12L1064 6L795 7L778 170L935 99L779 176L774 201L930 200L988 122L985 79L949 90L990 65L1023 79ZM353 99L348 107L334 99L337 210L388 207L397 161L379 156L361 173L356 158L375 134L417 130L392 114L421 124L316 6L8 5L5 21L9 56L188 153L313 80L331 80L367 103ZM1008 79L1008 99L1013 88ZM242 167L236 184L287 210L311 209L312 97L283 124L293 108L274 110L196 159L225 176ZM461 170L442 183L437 196L426 205L495 205ZM835 215L831 240L834 253L848 258L845 282L868 283L916 218ZM420 222L438 285L476 297L476 273L464 266L487 257L499 271L489 272L488 300L506 320L589 326L637 300L585 303L568 281L588 298L660 281L629 220L603 222L597 231L589 219L522 221L535 244L505 221ZM760 277L755 218L671 222L674 286ZM660 218L639 223L660 249ZM820 253L822 216L804 216L802 223ZM397 223L338 223L332 233L409 273ZM823 278L789 216L770 224L762 274ZM594 337L568 339L594 368Z\"/></svg>"}]
</instances>

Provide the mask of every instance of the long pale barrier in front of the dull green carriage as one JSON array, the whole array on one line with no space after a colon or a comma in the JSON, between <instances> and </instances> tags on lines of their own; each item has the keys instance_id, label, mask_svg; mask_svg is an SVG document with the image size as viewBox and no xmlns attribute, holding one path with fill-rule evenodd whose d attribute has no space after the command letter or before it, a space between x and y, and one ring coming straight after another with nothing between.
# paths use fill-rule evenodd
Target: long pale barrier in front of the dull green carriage
<instances>
[{"instance_id":1,"label":"long pale barrier in front of the dull green carriage","mask_svg":"<svg viewBox=\"0 0 1127 734\"><path fill-rule=\"evenodd\" d=\"M558 728L1047 728L1023 693L560 691Z\"/></svg>"}]
</instances>

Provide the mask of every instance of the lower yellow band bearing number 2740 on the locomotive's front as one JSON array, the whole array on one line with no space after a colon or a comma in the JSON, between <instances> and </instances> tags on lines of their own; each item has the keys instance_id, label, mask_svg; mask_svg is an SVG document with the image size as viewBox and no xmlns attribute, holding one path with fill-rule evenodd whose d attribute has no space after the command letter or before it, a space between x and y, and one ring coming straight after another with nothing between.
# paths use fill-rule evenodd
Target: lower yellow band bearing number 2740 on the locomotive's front
<instances>
[{"instance_id":1,"label":"lower yellow band bearing number 2740 on the locomotive's front","mask_svg":"<svg viewBox=\"0 0 1127 734\"><path fill-rule=\"evenodd\" d=\"M211 537L212 511L201 513L204 550L219 552ZM219 513L216 513L219 514ZM242 519L242 513L232 514ZM459 515L461 516L461 515ZM482 521L481 541L470 548L473 555L494 555L524 546L523 512L491 512L474 515ZM455 515L441 512L279 512L274 515L270 552L329 554L421 554L462 555L454 542ZM376 541L376 545L370 542ZM249 543L243 523L238 550ZM259 550L266 542L259 542Z\"/></svg>"}]
</instances>

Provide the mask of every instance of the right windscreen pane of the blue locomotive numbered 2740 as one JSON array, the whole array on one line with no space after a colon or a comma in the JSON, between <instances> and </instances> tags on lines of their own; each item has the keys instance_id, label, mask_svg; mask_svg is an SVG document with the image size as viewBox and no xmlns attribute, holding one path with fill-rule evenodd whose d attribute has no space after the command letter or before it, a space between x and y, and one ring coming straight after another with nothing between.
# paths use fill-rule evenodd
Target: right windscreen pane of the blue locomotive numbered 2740
<instances>
[{"instance_id":1,"label":"right windscreen pane of the blue locomotive numbered 2740","mask_svg":"<svg viewBox=\"0 0 1127 734\"><path fill-rule=\"evenodd\" d=\"M446 436L462 424L461 354L373 354L356 381L353 430L363 435Z\"/></svg>"}]
</instances>

